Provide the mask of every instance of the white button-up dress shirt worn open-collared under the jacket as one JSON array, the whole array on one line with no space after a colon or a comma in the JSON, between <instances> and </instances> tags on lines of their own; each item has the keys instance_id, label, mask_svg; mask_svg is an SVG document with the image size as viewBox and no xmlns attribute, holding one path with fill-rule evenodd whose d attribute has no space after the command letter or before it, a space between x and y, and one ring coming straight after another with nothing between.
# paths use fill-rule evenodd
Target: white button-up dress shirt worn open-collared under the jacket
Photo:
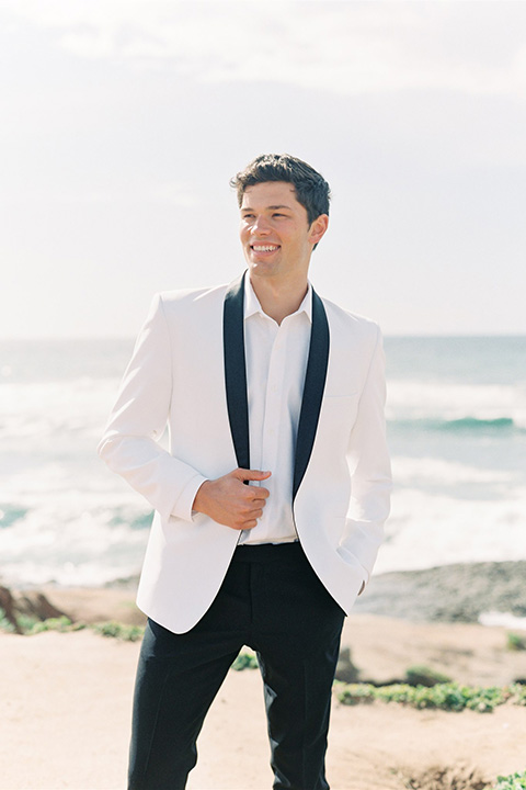
<instances>
[{"instance_id":1,"label":"white button-up dress shirt worn open-collared under the jacket","mask_svg":"<svg viewBox=\"0 0 526 790\"><path fill-rule=\"evenodd\" d=\"M251 484L267 488L270 496L258 526L242 532L242 544L288 543L298 538L291 508L293 474L311 325L310 284L299 309L278 325L263 313L245 278L250 466L270 471L272 476Z\"/></svg>"}]
</instances>

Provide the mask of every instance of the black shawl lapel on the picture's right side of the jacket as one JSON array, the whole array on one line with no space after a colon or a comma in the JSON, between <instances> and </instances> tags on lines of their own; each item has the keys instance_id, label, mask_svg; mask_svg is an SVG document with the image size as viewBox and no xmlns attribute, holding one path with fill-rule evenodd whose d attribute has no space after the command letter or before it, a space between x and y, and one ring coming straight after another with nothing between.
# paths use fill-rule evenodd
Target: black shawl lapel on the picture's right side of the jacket
<instances>
[{"instance_id":1,"label":"black shawl lapel on the picture's right side of the jacket","mask_svg":"<svg viewBox=\"0 0 526 790\"><path fill-rule=\"evenodd\" d=\"M323 302L312 289L312 327L305 374L304 397L299 413L296 458L294 464L293 501L296 498L310 461L329 363L329 321Z\"/></svg>"}]
</instances>

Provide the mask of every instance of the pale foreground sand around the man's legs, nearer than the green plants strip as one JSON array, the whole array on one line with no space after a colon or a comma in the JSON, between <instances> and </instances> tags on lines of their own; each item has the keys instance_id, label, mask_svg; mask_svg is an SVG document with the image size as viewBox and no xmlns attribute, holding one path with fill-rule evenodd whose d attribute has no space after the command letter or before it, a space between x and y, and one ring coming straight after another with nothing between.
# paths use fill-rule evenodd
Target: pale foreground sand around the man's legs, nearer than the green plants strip
<instances>
[{"instance_id":1,"label":"pale foreground sand around the man's legs, nearer than the green plants strip","mask_svg":"<svg viewBox=\"0 0 526 790\"><path fill-rule=\"evenodd\" d=\"M0 635L0 790L125 787L138 650L90 631ZM268 790L267 759L259 673L229 673L188 790ZM492 714L382 704L333 710L333 790L474 788L459 779L473 768L491 781L525 767L525 708L504 706ZM449 778L432 781L436 768ZM426 772L427 781L408 786L408 777Z\"/></svg>"}]
</instances>

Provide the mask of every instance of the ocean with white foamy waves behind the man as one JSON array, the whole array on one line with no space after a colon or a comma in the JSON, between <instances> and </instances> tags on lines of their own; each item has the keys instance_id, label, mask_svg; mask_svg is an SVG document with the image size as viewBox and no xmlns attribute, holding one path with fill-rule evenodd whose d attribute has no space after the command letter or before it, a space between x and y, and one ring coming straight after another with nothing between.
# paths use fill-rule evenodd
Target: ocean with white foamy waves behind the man
<instances>
[{"instance_id":1,"label":"ocean with white foamy waves behind the man","mask_svg":"<svg viewBox=\"0 0 526 790\"><path fill-rule=\"evenodd\" d=\"M133 340L0 343L0 583L135 576L151 510L95 447ZM526 560L526 337L388 337L376 573Z\"/></svg>"}]
</instances>

